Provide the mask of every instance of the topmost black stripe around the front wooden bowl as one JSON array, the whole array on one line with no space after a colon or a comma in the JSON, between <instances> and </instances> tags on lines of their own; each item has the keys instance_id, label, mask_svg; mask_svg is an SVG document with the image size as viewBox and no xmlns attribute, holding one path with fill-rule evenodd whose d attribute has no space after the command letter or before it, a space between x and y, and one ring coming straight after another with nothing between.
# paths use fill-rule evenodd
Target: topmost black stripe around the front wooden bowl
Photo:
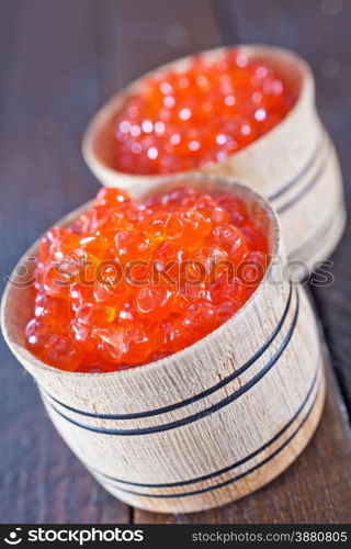
<instances>
[{"instance_id":1,"label":"topmost black stripe around the front wooden bowl","mask_svg":"<svg viewBox=\"0 0 351 549\"><path fill-rule=\"evenodd\" d=\"M230 373L230 376L227 376L223 380L220 380L218 383L215 385L212 385L211 388L206 389L205 391L202 391L201 393L197 393L193 396L190 396L189 399L184 399L181 402L176 402L174 404L169 404L168 406L162 406L159 408L155 410L148 410L145 412L136 412L134 414L98 414L98 413L92 413L92 412L86 412L83 410L77 410L72 406L68 406L67 404L64 404L63 402L58 401L55 399L55 396L52 396L48 394L43 388L41 388L41 393L44 396L48 396L52 401L54 401L56 404L59 404L66 410L69 410L70 412L73 412L79 415L83 415L86 417L94 417L95 419L139 419L141 417L150 417L154 415L160 415L160 414L166 414L167 412L172 412L173 410L181 408L183 406L189 406L190 404L193 404L194 402L197 402L202 399L205 399L206 396L210 396L211 394L215 393L223 386L227 385L235 379L237 379L241 373L244 373L248 368L250 368L264 352L265 350L270 347L272 341L276 338L279 333L281 332L283 324L286 320L287 313L291 307L291 302L292 302L292 292L293 292L293 287L292 283L290 284L290 292L286 301L286 305L284 309L284 312L282 314L282 317L280 318L276 327L272 332L272 334L269 336L269 338L264 341L262 347L260 347L252 357L247 360L240 368L238 368L235 372Z\"/></svg>"}]
</instances>

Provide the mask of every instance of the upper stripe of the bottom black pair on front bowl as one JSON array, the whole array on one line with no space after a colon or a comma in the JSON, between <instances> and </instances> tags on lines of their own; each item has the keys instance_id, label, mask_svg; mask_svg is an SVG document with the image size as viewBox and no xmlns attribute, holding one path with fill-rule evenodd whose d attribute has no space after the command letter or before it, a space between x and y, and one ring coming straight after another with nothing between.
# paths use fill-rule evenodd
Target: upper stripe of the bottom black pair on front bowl
<instances>
[{"instance_id":1,"label":"upper stripe of the bottom black pair on front bowl","mask_svg":"<svg viewBox=\"0 0 351 549\"><path fill-rule=\"evenodd\" d=\"M120 484L127 484L127 485L131 485L131 486L151 488L151 489L155 489L155 488L185 486L185 485L189 485L189 484L197 484L199 482L204 482L204 481L213 479L215 477L220 477L222 474L227 473L227 472L231 471L233 469L236 469L237 467L242 466L244 463L246 463L247 461L250 461L252 458L254 458L256 456L258 456L262 451L267 450L270 446L272 446L273 442L275 442L276 440L279 440L279 438L281 438L282 435L284 435L284 433L293 425L293 423L295 422L295 419L298 417L298 415L302 413L302 411L306 406L306 404L307 404L307 402L308 402L308 400L309 400L309 397L310 397L310 395L312 395L315 386L317 384L319 385L319 383L320 383L320 372L321 372L321 370L319 368L320 360L321 360L321 355L318 358L317 368L316 368L316 372L314 374L312 384L310 384L310 386L309 386L309 389L307 391L307 394L306 394L305 399L303 400L302 404L296 410L295 414L288 419L288 422L268 442L265 442L260 448L256 449L254 451L252 451L251 453L249 453L245 458L236 461L235 463L231 463L230 466L227 466L227 467L225 467L223 469L219 469L219 470L217 470L215 472L212 472L212 473L208 473L208 474L204 474L202 477L195 477L193 479L189 479L189 480L185 480L185 481L148 484L148 483L143 483L143 482L132 482L132 481L125 481L125 480L116 479L115 477L111 477L109 474L104 474L104 473L98 471L97 469L94 469L92 467L89 467L89 464L87 464L87 463L84 463L84 464L86 464L87 469L89 469L94 475L101 477L102 481L110 481L111 483L120 483ZM117 490L120 490L120 486L115 486L115 488Z\"/></svg>"}]
</instances>

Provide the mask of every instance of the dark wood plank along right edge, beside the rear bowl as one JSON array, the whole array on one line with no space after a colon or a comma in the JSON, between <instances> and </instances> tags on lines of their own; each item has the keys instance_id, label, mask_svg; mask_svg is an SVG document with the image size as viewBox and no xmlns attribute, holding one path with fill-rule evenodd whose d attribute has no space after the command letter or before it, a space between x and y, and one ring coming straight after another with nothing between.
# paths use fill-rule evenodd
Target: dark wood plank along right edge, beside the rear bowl
<instances>
[{"instance_id":1,"label":"dark wood plank along right edge, beside the rear bowl","mask_svg":"<svg viewBox=\"0 0 351 549\"><path fill-rule=\"evenodd\" d=\"M226 16L220 20L227 40L231 36L231 42L285 46L303 55L310 64L316 78L318 111L340 157L350 215L351 60L348 36L351 2L224 0L217 5L226 10ZM230 26L234 20L236 35L233 35ZM339 248L330 258L335 282L327 288L314 287L313 290L351 417L350 247L349 224Z\"/></svg>"}]
</instances>

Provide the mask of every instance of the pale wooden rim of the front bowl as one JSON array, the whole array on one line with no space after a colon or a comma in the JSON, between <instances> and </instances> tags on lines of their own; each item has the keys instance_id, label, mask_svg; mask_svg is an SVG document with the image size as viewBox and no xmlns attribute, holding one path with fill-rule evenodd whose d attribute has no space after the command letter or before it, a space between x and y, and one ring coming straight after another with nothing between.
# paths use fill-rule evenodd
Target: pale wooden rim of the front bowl
<instances>
[{"instance_id":1,"label":"pale wooden rim of the front bowl","mask_svg":"<svg viewBox=\"0 0 351 549\"><path fill-rule=\"evenodd\" d=\"M184 175L184 179L190 179L189 175ZM216 176L216 175L208 175L208 173L195 173L191 175L192 180L199 180L201 181L207 181L208 183L211 181L217 182L219 186L227 187L228 192L233 192L233 194L237 194L236 190L239 191L239 197L245 197L245 201L250 201L253 203L257 203L261 209L264 211L264 214L267 216L267 220L270 223L271 226L271 239L272 239L272 249L270 250L270 262L268 265L268 268L265 270L264 277L261 280L259 287L254 290L254 292L251 294L251 296L245 302L245 304L233 315L230 318L228 318L226 322L224 322L222 325L219 325L217 328L215 328L213 332L207 334L205 337L202 337L201 339L197 339L195 343L192 345L184 347L183 349L173 352L167 357L163 357L158 360L154 360L151 362L148 362L146 365L139 365L135 367L131 367L125 370L115 370L112 372L77 372L77 371L67 371L67 370L61 370L55 367L52 367L49 365L46 365L44 361L35 357L22 343L18 341L18 337L13 334L13 328L9 326L8 321L7 321L7 311L8 307L11 306L11 300L12 300L12 291L15 291L8 281L2 294L1 299L1 305L0 305L0 324L1 324L1 332L4 337L4 340L7 341L10 350L12 354L15 356L15 358L21 362L21 365L26 369L24 363L30 363L31 367L37 371L44 371L46 373L53 374L53 376L61 376L66 378L90 378L90 379L99 379L103 378L106 379L107 377L115 377L115 376L123 376L123 377L134 377L138 376L140 370L145 373L152 371L155 368L167 368L168 362L176 360L181 360L184 356L191 354L195 347L200 347L201 345L207 345L208 340L214 337L220 337L220 332L225 329L225 326L229 322L235 322L238 323L240 322L240 317L246 313L246 311L252 305L253 301L258 299L258 296L262 293L263 287L269 283L269 277L272 272L273 265L276 265L276 260L280 260L282 257L285 258L284 254L284 246L283 246L283 240L282 240L282 232L281 232L281 226L279 222L278 214L274 210L274 208L271 205L271 203L265 199L262 194L258 193L257 191L252 190L250 187L247 184L238 182L234 178L229 177L223 177L223 176ZM172 177L168 178L168 183L171 181L174 182L174 186L172 188L179 187L179 179L174 179ZM167 186L166 181L161 181L158 184L158 189L161 191L165 186ZM196 183L200 184L200 183ZM191 188L192 186L189 184ZM155 188L152 189L152 193L155 193ZM66 214L64 217L58 220L57 223L55 223L52 226L65 226L68 223L71 223L78 215L81 215L87 208L93 202L93 200L90 200L82 204L81 206L72 210L70 213ZM44 233L45 234L45 233ZM42 235L43 236L43 235ZM42 239L42 236L39 236L29 248L22 255L22 257L19 259L16 262L14 269L12 270L10 274L10 280L15 278L15 273L19 269L19 267L26 265L27 264L27 258L33 257L36 251L37 251L37 246ZM98 377L98 378L97 378Z\"/></svg>"}]
</instances>

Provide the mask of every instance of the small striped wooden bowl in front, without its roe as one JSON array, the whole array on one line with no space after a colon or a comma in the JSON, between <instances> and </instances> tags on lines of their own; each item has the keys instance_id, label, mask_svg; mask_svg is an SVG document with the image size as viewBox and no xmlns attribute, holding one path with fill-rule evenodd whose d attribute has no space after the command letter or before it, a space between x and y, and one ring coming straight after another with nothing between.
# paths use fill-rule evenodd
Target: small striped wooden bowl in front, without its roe
<instances>
[{"instance_id":1,"label":"small striped wooden bowl in front, without its roe","mask_svg":"<svg viewBox=\"0 0 351 549\"><path fill-rule=\"evenodd\" d=\"M172 179L154 192L176 184ZM23 272L31 277L29 258L37 243L18 264L1 309L10 348L34 377L48 415L77 457L113 495L165 513L223 505L270 482L307 445L325 399L314 313L304 290L286 280L271 206L233 180L200 176L182 184L239 195L269 236L271 262L260 287L212 334L121 372L46 366L25 348L23 335L33 306Z\"/></svg>"}]
</instances>

